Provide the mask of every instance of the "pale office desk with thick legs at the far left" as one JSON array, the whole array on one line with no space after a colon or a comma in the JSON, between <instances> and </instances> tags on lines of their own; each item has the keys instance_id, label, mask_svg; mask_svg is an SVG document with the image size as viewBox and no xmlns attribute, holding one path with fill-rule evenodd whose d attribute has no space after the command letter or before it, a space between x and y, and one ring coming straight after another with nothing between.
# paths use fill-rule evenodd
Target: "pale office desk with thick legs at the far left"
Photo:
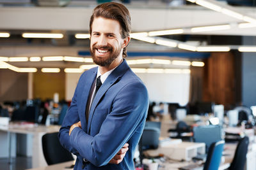
<instances>
[{"instance_id":1,"label":"pale office desk with thick legs at the far left","mask_svg":"<svg viewBox=\"0 0 256 170\"><path fill-rule=\"evenodd\" d=\"M32 143L32 167L47 166L44 159L44 153L42 150L42 136L48 132L58 132L60 125L33 125L33 124L17 124L11 123L8 126L0 126L0 138L5 142L5 145L1 145L1 151L7 151L9 162L12 163L12 157L15 157L16 152L16 134L31 134ZM7 133L6 133L7 132ZM6 136L8 138L6 138ZM6 143L8 145L6 146Z\"/></svg>"}]
</instances>

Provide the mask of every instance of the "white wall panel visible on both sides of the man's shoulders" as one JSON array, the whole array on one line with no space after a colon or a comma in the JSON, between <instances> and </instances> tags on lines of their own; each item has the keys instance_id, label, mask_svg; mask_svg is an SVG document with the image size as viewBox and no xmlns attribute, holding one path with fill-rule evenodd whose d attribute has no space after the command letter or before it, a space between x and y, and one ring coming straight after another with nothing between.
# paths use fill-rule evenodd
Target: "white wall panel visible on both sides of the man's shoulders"
<instances>
[{"instance_id":1,"label":"white wall panel visible on both sides of the man's shoulders","mask_svg":"<svg viewBox=\"0 0 256 170\"><path fill-rule=\"evenodd\" d=\"M66 100L71 101L81 73L66 73ZM137 73L148 89L150 101L179 103L189 100L190 74Z\"/></svg>"}]
</instances>

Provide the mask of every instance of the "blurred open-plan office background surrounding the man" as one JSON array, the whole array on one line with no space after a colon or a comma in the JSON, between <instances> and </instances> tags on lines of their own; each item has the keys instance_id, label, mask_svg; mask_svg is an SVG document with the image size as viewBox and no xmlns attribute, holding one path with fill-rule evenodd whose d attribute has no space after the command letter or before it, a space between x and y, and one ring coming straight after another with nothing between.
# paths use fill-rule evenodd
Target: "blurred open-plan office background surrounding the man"
<instances>
[{"instance_id":1,"label":"blurred open-plan office background surrounding the man","mask_svg":"<svg viewBox=\"0 0 256 170\"><path fill-rule=\"evenodd\" d=\"M88 29L103 2L0 0L0 169L72 164L52 167L42 136L58 132L79 76L95 66ZM150 99L136 168L207 169L214 143L215 168L256 169L256 1L116 2L132 19L125 60ZM246 142L241 162L235 152Z\"/></svg>"}]
</instances>

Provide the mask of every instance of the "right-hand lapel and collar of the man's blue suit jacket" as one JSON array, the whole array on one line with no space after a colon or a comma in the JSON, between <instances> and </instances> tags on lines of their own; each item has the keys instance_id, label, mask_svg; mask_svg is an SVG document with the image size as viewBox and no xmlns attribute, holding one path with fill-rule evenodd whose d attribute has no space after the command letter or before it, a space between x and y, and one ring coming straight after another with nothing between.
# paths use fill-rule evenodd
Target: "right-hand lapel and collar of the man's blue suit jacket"
<instances>
[{"instance_id":1,"label":"right-hand lapel and collar of the man's blue suit jacket","mask_svg":"<svg viewBox=\"0 0 256 170\"><path fill-rule=\"evenodd\" d=\"M97 94L96 94L96 96L93 100L93 103L92 103L92 106L91 106L91 109L90 109L90 115L89 115L89 119L88 119L88 134L90 134L90 127L91 127L91 123L92 123L92 117L93 117L95 108L98 105L100 99L107 92L107 90L117 80L119 80L124 75L124 73L127 71L127 69L129 69L129 66L127 65L127 62L124 59L124 61L118 67L116 67L116 69L111 74L109 74L108 78L104 81L104 83L100 87L99 91L97 92Z\"/></svg>"}]
</instances>

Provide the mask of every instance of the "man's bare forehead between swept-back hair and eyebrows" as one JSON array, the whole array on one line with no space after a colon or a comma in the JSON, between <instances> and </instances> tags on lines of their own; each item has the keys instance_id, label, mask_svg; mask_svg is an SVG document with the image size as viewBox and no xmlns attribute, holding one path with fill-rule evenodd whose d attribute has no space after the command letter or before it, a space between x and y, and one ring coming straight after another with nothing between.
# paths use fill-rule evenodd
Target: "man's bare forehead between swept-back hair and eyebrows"
<instances>
[{"instance_id":1,"label":"man's bare forehead between swept-back hair and eyebrows","mask_svg":"<svg viewBox=\"0 0 256 170\"><path fill-rule=\"evenodd\" d=\"M97 17L92 23L92 32L120 34L121 27L117 20Z\"/></svg>"}]
</instances>

